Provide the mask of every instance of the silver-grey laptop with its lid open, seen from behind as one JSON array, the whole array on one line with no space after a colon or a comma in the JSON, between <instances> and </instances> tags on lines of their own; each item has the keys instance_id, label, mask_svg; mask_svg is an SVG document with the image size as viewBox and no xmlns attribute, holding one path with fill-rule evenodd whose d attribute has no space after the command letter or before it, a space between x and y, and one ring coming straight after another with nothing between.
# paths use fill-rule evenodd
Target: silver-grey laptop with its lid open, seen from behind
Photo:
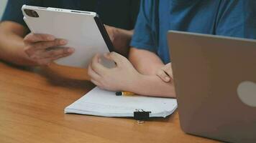
<instances>
[{"instance_id":1,"label":"silver-grey laptop with its lid open, seen from behind","mask_svg":"<svg viewBox=\"0 0 256 143\"><path fill-rule=\"evenodd\" d=\"M184 132L256 142L256 41L169 31Z\"/></svg>"}]
</instances>

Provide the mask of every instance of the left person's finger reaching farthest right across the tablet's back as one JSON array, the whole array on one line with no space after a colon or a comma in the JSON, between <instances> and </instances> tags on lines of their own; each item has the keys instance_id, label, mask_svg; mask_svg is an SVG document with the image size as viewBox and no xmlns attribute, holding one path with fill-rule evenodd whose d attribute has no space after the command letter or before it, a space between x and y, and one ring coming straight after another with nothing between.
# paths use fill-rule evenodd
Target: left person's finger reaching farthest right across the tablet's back
<instances>
[{"instance_id":1,"label":"left person's finger reaching farthest right across the tablet's back","mask_svg":"<svg viewBox=\"0 0 256 143\"><path fill-rule=\"evenodd\" d=\"M42 52L40 56L42 58L55 59L55 57L67 56L67 55L73 54L74 51L75 49L73 48L63 47L63 48L51 49L50 51Z\"/></svg>"}]
</instances>

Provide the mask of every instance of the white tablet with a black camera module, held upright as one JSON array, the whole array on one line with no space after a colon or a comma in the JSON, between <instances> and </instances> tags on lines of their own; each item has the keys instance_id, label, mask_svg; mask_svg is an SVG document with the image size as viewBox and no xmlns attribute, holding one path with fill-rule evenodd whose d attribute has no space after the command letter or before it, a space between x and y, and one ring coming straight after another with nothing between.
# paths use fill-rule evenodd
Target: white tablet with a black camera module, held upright
<instances>
[{"instance_id":1,"label":"white tablet with a black camera module, held upright","mask_svg":"<svg viewBox=\"0 0 256 143\"><path fill-rule=\"evenodd\" d=\"M95 12L22 6L24 21L35 34L51 34L68 40L75 52L58 59L57 64L86 68L96 54L114 51L104 25Z\"/></svg>"}]
</instances>

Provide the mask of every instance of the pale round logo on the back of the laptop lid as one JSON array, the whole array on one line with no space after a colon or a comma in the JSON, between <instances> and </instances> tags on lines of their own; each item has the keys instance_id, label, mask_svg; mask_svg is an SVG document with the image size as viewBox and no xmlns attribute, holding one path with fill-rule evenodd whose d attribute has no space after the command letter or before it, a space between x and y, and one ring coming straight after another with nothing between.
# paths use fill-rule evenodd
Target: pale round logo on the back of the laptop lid
<instances>
[{"instance_id":1,"label":"pale round logo on the back of the laptop lid","mask_svg":"<svg viewBox=\"0 0 256 143\"><path fill-rule=\"evenodd\" d=\"M241 82L237 87L239 99L250 107L256 107L256 83Z\"/></svg>"}]
</instances>

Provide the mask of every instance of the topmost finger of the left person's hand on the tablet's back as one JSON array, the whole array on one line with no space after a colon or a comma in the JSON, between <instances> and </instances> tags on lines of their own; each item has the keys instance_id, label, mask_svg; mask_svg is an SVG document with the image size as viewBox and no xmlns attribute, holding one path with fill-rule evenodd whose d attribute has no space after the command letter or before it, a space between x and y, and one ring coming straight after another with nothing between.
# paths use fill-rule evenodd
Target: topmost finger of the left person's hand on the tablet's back
<instances>
[{"instance_id":1,"label":"topmost finger of the left person's hand on the tablet's back","mask_svg":"<svg viewBox=\"0 0 256 143\"><path fill-rule=\"evenodd\" d=\"M35 43L38 41L53 41L55 37L49 34L28 34L24 37L25 43Z\"/></svg>"}]
</instances>

